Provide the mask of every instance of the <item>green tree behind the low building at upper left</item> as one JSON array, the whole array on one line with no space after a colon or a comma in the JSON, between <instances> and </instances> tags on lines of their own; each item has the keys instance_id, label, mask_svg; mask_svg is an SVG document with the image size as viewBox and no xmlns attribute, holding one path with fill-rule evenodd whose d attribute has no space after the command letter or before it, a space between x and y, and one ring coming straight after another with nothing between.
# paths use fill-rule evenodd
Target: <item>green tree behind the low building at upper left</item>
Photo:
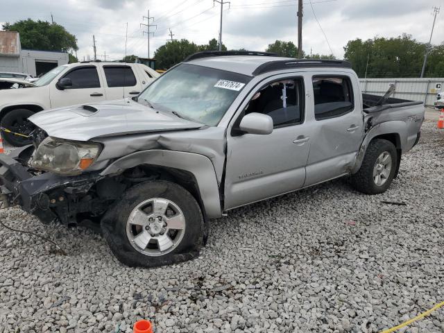
<instances>
[{"instance_id":1,"label":"green tree behind the low building at upper left","mask_svg":"<svg viewBox=\"0 0 444 333\"><path fill-rule=\"evenodd\" d=\"M43 51L78 50L77 38L60 24L25 19L3 24L6 31L18 31L23 49Z\"/></svg>"}]
</instances>

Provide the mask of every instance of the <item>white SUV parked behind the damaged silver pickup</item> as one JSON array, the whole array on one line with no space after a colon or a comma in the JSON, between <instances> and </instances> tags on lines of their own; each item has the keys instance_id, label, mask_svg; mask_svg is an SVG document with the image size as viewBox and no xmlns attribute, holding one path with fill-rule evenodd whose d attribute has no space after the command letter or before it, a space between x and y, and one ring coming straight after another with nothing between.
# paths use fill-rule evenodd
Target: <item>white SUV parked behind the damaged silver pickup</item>
<instances>
[{"instance_id":1,"label":"white SUV parked behind the damaged silver pickup","mask_svg":"<svg viewBox=\"0 0 444 333\"><path fill-rule=\"evenodd\" d=\"M35 87L0 91L1 127L28 134L33 126L27 119L35 112L137 96L159 75L146 65L124 62L62 65L36 80ZM2 135L14 146L29 143L12 133Z\"/></svg>"}]
</instances>

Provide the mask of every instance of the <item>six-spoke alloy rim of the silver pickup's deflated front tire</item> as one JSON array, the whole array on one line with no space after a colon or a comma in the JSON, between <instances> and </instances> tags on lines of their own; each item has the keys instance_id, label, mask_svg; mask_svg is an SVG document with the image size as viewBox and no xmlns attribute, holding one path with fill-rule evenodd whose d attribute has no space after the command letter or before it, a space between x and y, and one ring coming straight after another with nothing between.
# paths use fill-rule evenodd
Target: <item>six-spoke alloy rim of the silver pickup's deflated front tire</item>
<instances>
[{"instance_id":1,"label":"six-spoke alloy rim of the silver pickup's deflated front tire","mask_svg":"<svg viewBox=\"0 0 444 333\"><path fill-rule=\"evenodd\" d=\"M185 234L185 216L173 201L151 198L139 203L126 221L126 237L135 250L157 257L170 253Z\"/></svg>"}]
</instances>

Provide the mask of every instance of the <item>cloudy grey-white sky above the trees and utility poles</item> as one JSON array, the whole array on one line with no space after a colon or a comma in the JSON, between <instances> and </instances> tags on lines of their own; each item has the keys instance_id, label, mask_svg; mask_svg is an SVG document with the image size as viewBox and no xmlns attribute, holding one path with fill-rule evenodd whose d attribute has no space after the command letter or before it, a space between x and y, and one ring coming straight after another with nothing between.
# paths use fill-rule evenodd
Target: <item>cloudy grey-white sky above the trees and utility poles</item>
<instances>
[{"instance_id":1,"label":"cloudy grey-white sky above the trees and utility poles","mask_svg":"<svg viewBox=\"0 0 444 333\"><path fill-rule=\"evenodd\" d=\"M171 38L169 29L173 39L206 44L218 39L221 10L213 0L0 0L0 5L0 24L27 18L51 22L52 13L54 22L76 35L79 60L93 57L92 35L99 59L105 54L107 60L121 59L125 44L127 54L146 57L146 27L140 23L147 23L143 17L148 10L153 17L150 24L157 25L151 27L151 57ZM432 43L444 42L444 0L304 0L303 6L305 53L333 53L342 58L348 40L402 33L428 42L434 6L441 6L441 12ZM230 0L223 5L223 44L228 49L250 51L264 51L275 40L297 45L296 12L297 0Z\"/></svg>"}]
</instances>

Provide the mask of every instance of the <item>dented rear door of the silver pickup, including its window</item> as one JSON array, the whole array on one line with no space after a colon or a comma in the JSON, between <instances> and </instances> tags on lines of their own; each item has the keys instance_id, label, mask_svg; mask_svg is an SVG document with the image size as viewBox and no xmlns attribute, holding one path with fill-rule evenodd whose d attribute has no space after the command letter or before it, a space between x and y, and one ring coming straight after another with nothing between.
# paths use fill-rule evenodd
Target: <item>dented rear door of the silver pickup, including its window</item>
<instances>
[{"instance_id":1,"label":"dented rear door of the silver pickup, including its window","mask_svg":"<svg viewBox=\"0 0 444 333\"><path fill-rule=\"evenodd\" d=\"M305 186L349 173L364 132L361 100L355 95L360 90L354 78L320 72L311 77L310 88L314 123Z\"/></svg>"}]
</instances>

